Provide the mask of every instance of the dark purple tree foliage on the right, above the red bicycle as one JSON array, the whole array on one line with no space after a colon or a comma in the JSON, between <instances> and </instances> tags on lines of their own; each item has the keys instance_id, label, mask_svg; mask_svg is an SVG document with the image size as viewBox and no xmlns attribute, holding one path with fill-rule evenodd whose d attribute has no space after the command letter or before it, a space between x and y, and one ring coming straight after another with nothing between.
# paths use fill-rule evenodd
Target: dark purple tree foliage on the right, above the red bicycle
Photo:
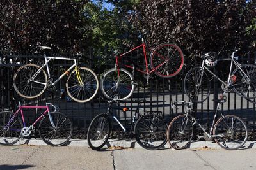
<instances>
[{"instance_id":1,"label":"dark purple tree foliage on the right, above the red bicycle","mask_svg":"<svg viewBox=\"0 0 256 170\"><path fill-rule=\"evenodd\" d=\"M135 23L150 30L151 45L173 42L191 56L235 46L244 50L255 48L252 46L255 37L246 34L246 27L249 29L255 18L253 1L141 0L136 11ZM250 30L255 31L251 27ZM255 35L252 32L250 35Z\"/></svg>"}]
</instances>

